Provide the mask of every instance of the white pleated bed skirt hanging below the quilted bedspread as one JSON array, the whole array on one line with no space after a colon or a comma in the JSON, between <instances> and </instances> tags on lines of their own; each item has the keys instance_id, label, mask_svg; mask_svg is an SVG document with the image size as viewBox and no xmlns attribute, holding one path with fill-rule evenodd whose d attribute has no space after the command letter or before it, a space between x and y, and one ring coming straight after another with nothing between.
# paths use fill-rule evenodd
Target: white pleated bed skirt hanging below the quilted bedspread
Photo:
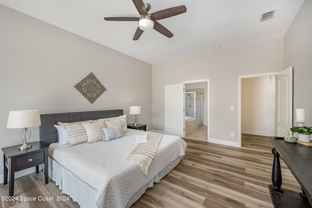
<instances>
[{"instance_id":1,"label":"white pleated bed skirt hanging below the quilted bedspread","mask_svg":"<svg viewBox=\"0 0 312 208\"><path fill-rule=\"evenodd\" d=\"M74 173L66 170L57 161L53 160L50 156L49 158L49 176L55 181L62 193L68 194L74 202L78 202L80 208L102 208L104 205L96 204L95 198L97 196L98 190L91 187L89 184L81 181ZM160 179L173 170L176 165L180 162L183 156L178 157L162 171L160 171L154 179L149 181L145 186L135 193L129 200L126 208L129 208L133 203L135 203L146 189L153 187L154 182L159 183Z\"/></svg>"}]
</instances>

